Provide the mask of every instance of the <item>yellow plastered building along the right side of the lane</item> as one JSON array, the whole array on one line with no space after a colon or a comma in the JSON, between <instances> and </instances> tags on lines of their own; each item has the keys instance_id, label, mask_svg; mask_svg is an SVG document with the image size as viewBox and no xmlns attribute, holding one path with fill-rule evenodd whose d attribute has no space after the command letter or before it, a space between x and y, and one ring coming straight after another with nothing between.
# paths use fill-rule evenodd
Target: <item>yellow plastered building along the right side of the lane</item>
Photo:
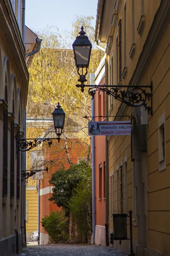
<instances>
[{"instance_id":1,"label":"yellow plastered building along the right side of the lane","mask_svg":"<svg viewBox=\"0 0 170 256\"><path fill-rule=\"evenodd\" d=\"M107 136L108 232L110 237L114 213L132 210L137 256L170 255L169 13L167 0L99 0L96 15L95 39L107 44L106 87L146 86L136 91L147 95L147 110L108 96L108 120L132 121L132 136ZM130 253L130 240L113 246Z\"/></svg>"}]
</instances>

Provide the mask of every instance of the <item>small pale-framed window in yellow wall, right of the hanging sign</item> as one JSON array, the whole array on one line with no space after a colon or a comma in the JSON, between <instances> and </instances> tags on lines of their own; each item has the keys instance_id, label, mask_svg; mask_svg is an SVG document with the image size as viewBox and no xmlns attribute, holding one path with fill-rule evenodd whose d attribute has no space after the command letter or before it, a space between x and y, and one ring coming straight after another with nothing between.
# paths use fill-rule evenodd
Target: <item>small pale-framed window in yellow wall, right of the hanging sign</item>
<instances>
[{"instance_id":1,"label":"small pale-framed window in yellow wall, right of the hanging sign","mask_svg":"<svg viewBox=\"0 0 170 256\"><path fill-rule=\"evenodd\" d=\"M165 113L158 119L159 171L166 169Z\"/></svg>"}]
</instances>

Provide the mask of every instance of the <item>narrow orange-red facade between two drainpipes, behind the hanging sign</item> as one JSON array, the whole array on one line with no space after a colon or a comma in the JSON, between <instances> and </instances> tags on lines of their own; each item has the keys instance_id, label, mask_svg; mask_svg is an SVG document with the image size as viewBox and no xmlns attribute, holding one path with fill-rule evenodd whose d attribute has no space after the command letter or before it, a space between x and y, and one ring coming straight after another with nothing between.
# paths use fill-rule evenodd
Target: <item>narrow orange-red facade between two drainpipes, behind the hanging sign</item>
<instances>
[{"instance_id":1,"label":"narrow orange-red facade between two drainpipes, behind the hanging sign","mask_svg":"<svg viewBox=\"0 0 170 256\"><path fill-rule=\"evenodd\" d=\"M105 84L105 57L102 59L96 73L91 75L91 84ZM95 116L93 121L105 121L105 93L96 92L93 101ZM94 136L94 144L96 227L95 235L93 230L93 236L95 236L95 244L105 246L105 136Z\"/></svg>"}]
</instances>

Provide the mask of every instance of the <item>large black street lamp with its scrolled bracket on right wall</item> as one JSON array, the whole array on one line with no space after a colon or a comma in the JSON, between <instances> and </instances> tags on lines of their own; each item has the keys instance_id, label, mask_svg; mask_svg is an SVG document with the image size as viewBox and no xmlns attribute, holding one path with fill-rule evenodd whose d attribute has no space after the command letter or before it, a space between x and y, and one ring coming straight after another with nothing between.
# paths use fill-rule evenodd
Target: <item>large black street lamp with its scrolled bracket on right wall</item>
<instances>
[{"instance_id":1,"label":"large black street lamp with its scrolled bracket on right wall","mask_svg":"<svg viewBox=\"0 0 170 256\"><path fill-rule=\"evenodd\" d=\"M76 84L77 87L81 88L84 92L84 87L90 87L88 93L94 99L96 91L105 91L108 95L113 96L115 99L125 103L130 107L140 107L144 106L148 110L148 113L152 114L152 82L150 85L85 85L87 81L85 76L88 73L88 65L90 61L91 54L91 42L88 37L85 36L83 27L82 31L79 32L76 40L73 43L74 58L76 61L77 73L79 75L79 82L81 84ZM79 73L79 68L82 68L82 74ZM83 75L83 68L85 68L85 74ZM126 88L126 90L124 90ZM146 88L149 91L146 92ZM147 102L150 100L150 106L147 106Z\"/></svg>"}]
</instances>

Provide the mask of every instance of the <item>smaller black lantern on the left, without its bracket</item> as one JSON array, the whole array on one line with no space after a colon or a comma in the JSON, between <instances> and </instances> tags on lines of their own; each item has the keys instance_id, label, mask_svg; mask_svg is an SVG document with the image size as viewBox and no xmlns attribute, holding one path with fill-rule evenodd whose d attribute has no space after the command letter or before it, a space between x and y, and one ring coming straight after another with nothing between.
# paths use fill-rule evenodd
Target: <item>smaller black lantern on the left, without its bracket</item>
<instances>
[{"instance_id":1,"label":"smaller black lantern on the left, without its bracket","mask_svg":"<svg viewBox=\"0 0 170 256\"><path fill-rule=\"evenodd\" d=\"M62 110L61 106L59 105L59 102L58 102L57 108L55 108L52 115L54 120L55 132L58 136L57 140L59 142L60 140L59 136L62 134L62 129L64 127L64 121L65 121L65 113Z\"/></svg>"}]
</instances>

